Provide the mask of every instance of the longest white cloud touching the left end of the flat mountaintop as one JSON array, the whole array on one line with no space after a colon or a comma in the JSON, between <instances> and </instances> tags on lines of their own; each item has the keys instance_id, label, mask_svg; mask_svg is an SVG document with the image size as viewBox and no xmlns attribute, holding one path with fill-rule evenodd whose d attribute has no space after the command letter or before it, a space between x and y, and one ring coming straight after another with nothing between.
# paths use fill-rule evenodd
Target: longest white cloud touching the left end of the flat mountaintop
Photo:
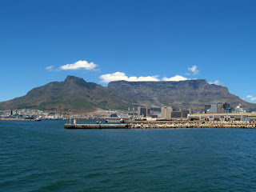
<instances>
[{"instance_id":1,"label":"longest white cloud touching the left end of the flat mountaintop","mask_svg":"<svg viewBox=\"0 0 256 192\"><path fill-rule=\"evenodd\" d=\"M115 72L113 74L102 74L100 77L101 82L114 82L125 80L127 82L159 82L158 75L147 77L128 77L125 73Z\"/></svg>"}]
</instances>

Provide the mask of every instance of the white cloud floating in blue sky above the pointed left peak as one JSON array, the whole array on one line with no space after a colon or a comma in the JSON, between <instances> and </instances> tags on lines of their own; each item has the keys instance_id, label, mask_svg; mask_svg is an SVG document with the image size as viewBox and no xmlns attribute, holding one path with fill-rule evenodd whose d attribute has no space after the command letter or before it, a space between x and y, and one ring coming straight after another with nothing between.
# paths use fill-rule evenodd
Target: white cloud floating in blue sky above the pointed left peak
<instances>
[{"instance_id":1,"label":"white cloud floating in blue sky above the pointed left peak","mask_svg":"<svg viewBox=\"0 0 256 192\"><path fill-rule=\"evenodd\" d=\"M60 66L58 70L95 70L98 65L94 64L94 62L86 62L86 61L78 61L72 64L66 64L65 66Z\"/></svg>"}]
</instances>

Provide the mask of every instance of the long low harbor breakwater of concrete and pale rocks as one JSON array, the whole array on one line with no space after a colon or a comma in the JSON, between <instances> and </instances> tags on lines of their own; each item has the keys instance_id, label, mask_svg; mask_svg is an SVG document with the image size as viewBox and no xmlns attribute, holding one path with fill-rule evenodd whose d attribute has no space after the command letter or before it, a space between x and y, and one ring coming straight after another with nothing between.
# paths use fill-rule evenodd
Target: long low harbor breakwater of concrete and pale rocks
<instances>
[{"instance_id":1,"label":"long low harbor breakwater of concrete and pale rocks","mask_svg":"<svg viewBox=\"0 0 256 192\"><path fill-rule=\"evenodd\" d=\"M238 128L256 129L250 122L174 122L174 123L123 123L123 124L65 124L66 129L175 129L175 128Z\"/></svg>"}]
</instances>

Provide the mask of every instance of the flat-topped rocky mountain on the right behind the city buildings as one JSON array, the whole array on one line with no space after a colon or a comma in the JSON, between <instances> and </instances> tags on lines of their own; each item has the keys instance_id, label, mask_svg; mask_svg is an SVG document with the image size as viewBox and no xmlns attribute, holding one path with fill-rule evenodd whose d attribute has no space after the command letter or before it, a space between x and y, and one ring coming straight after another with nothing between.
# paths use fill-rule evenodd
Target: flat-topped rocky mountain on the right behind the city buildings
<instances>
[{"instance_id":1,"label":"flat-topped rocky mountain on the right behind the city buildings","mask_svg":"<svg viewBox=\"0 0 256 192\"><path fill-rule=\"evenodd\" d=\"M138 106L199 109L216 102L228 102L232 107L242 104L246 109L255 106L230 94L225 86L209 84L202 79L181 82L118 81L110 82L108 88Z\"/></svg>"}]
</instances>

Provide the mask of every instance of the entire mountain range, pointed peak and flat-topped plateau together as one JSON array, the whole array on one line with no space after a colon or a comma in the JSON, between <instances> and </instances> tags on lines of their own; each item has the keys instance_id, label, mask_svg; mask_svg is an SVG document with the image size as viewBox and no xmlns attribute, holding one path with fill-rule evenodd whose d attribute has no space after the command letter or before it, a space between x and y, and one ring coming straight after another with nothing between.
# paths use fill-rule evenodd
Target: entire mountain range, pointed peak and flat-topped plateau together
<instances>
[{"instance_id":1,"label":"entire mountain range, pointed peak and flat-topped plateau together","mask_svg":"<svg viewBox=\"0 0 256 192\"><path fill-rule=\"evenodd\" d=\"M199 109L205 104L229 102L242 104L246 110L256 110L256 104L230 94L225 86L206 80L181 82L110 82L103 87L82 78L67 76L63 82L50 82L30 90L25 96L0 102L0 110L40 109L88 112L98 109L127 109L129 106L174 106Z\"/></svg>"}]
</instances>

